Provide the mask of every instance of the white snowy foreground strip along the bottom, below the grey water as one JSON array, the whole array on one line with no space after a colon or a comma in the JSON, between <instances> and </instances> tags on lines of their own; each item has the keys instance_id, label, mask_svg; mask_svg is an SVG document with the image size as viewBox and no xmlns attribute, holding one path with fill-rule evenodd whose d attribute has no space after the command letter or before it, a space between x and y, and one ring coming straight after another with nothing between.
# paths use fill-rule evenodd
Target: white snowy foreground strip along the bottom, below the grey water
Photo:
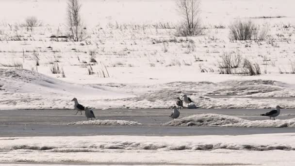
<instances>
[{"instance_id":1,"label":"white snowy foreground strip along the bottom, below the grey water","mask_svg":"<svg viewBox=\"0 0 295 166\"><path fill-rule=\"evenodd\" d=\"M0 138L0 162L292 166L295 164L294 142L293 133L180 137L3 137Z\"/></svg>"}]
</instances>

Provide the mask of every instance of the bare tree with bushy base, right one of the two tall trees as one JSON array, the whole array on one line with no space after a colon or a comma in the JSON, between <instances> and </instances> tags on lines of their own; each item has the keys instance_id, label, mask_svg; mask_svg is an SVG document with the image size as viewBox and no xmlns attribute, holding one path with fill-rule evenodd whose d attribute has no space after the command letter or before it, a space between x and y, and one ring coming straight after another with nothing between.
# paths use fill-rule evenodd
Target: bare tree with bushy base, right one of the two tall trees
<instances>
[{"instance_id":1,"label":"bare tree with bushy base, right one of the two tall trees","mask_svg":"<svg viewBox=\"0 0 295 166\"><path fill-rule=\"evenodd\" d=\"M193 36L202 33L200 15L200 0L176 0L178 11L184 23L177 27L181 36Z\"/></svg>"}]
</instances>

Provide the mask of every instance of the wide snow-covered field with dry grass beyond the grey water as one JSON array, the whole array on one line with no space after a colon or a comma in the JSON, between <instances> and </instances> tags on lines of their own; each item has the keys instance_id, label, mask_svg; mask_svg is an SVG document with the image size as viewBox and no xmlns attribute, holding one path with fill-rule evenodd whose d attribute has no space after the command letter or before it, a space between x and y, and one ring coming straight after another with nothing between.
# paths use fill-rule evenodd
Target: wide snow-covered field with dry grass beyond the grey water
<instances>
[{"instance_id":1,"label":"wide snow-covered field with dry grass beyond the grey water","mask_svg":"<svg viewBox=\"0 0 295 166\"><path fill-rule=\"evenodd\" d=\"M168 108L183 94L201 108L295 108L295 77L285 74L295 63L291 4L203 0L204 34L176 37L180 17L173 0L83 0L89 37L71 42L50 38L66 34L65 0L3 0L0 109L71 109L73 97L95 108ZM32 32L22 26L29 16L42 21ZM230 41L228 26L236 18L268 24L267 39ZM262 75L219 74L222 54L233 51L257 62ZM57 64L65 78L50 72Z\"/></svg>"}]
</instances>

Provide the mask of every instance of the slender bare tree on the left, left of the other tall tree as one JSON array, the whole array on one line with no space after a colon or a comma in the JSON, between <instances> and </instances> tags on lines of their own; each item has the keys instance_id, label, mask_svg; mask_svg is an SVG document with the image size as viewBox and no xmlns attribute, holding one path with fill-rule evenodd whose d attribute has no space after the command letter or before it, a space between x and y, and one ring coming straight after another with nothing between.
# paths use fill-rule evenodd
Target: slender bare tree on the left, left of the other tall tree
<instances>
[{"instance_id":1,"label":"slender bare tree on the left, left of the other tall tree","mask_svg":"<svg viewBox=\"0 0 295 166\"><path fill-rule=\"evenodd\" d=\"M69 37L74 41L82 41L86 37L86 28L83 27L83 21L80 15L82 4L79 0L67 1L67 26L69 28Z\"/></svg>"}]
</instances>

